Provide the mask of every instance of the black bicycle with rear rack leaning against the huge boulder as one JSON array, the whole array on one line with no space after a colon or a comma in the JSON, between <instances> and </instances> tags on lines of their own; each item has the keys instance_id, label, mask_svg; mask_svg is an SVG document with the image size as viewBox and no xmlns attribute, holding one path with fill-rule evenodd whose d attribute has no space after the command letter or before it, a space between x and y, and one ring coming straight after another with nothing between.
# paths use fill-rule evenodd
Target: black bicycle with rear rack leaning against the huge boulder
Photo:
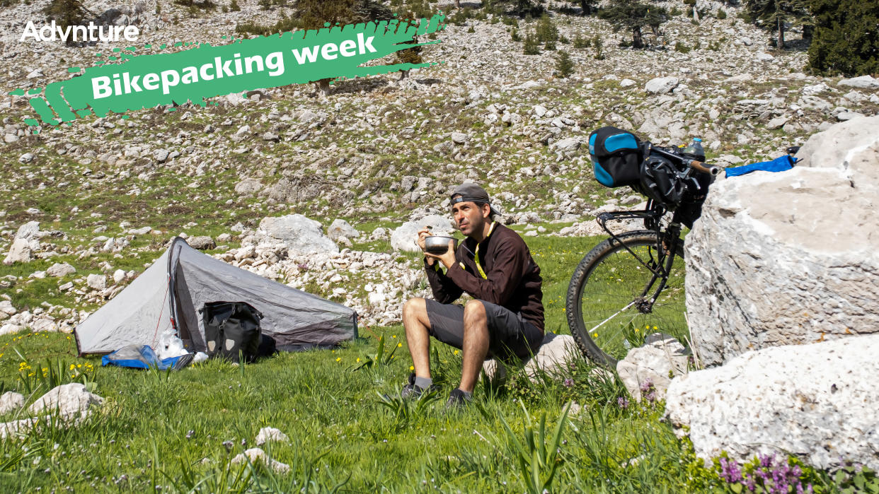
<instances>
[{"instance_id":1,"label":"black bicycle with rear rack leaning against the huge boulder","mask_svg":"<svg viewBox=\"0 0 879 494\"><path fill-rule=\"evenodd\" d=\"M642 146L643 156L664 163L666 171L672 170L689 197L694 197L703 187L700 183L705 182L698 180L694 172L713 179L723 170L675 148L649 142ZM682 222L692 226L694 218L686 218L688 211L677 207L679 204L661 201L655 190L633 189L649 197L646 207L599 214L596 220L610 238L579 262L570 278L565 304L570 333L578 346L593 362L614 368L629 348L643 345L650 333L670 334L681 341L688 335L684 267L676 264L675 258L684 258ZM701 201L698 207L696 218ZM616 234L607 227L610 221L626 219L643 220L644 229Z\"/></svg>"}]
</instances>

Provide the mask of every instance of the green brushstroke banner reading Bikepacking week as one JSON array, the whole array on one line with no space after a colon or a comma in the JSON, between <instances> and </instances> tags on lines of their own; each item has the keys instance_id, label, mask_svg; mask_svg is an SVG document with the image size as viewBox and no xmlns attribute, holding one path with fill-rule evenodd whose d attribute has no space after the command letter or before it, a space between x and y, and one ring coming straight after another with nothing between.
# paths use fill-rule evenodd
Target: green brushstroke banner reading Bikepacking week
<instances>
[{"instance_id":1,"label":"green brushstroke banner reading Bikepacking week","mask_svg":"<svg viewBox=\"0 0 879 494\"><path fill-rule=\"evenodd\" d=\"M44 123L57 125L92 113L104 116L187 101L203 106L205 98L251 89L429 67L439 62L361 65L407 48L439 43L412 40L445 27L445 16L438 14L412 21L328 25L239 39L221 47L206 43L172 54L135 56L131 47L109 57L109 63L86 68L83 75L48 84L30 103ZM39 92L30 89L27 94ZM18 89L12 94L25 92ZM34 119L26 121L37 125Z\"/></svg>"}]
</instances>

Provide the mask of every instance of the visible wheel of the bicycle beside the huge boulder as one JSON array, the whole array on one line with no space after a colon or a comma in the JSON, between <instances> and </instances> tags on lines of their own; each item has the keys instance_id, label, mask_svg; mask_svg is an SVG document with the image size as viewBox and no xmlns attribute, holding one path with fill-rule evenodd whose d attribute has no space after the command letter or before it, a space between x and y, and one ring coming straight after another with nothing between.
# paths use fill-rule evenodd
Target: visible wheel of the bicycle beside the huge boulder
<instances>
[{"instance_id":1,"label":"visible wheel of the bicycle beside the huge boulder","mask_svg":"<svg viewBox=\"0 0 879 494\"><path fill-rule=\"evenodd\" d=\"M643 345L650 333L680 341L688 334L684 263L663 255L656 233L649 230L618 237L620 242L605 240L580 261L570 278L565 308L579 347L592 361L609 367L629 348ZM683 258L683 249L675 254ZM655 274L663 269L669 270L665 283Z\"/></svg>"}]
</instances>

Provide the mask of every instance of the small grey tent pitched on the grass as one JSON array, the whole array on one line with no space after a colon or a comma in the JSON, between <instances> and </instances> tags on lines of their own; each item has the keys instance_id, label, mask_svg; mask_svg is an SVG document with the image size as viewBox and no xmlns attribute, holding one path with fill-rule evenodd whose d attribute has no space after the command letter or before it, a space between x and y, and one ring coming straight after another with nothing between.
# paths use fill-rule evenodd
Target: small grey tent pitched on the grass
<instances>
[{"instance_id":1,"label":"small grey tent pitched on the grass","mask_svg":"<svg viewBox=\"0 0 879 494\"><path fill-rule=\"evenodd\" d=\"M247 302L262 312L263 334L279 350L336 345L357 337L357 313L202 254L175 238L125 290L76 326L79 354L107 354L132 344L156 348L176 330L190 351L204 352L200 309L208 302Z\"/></svg>"}]
</instances>

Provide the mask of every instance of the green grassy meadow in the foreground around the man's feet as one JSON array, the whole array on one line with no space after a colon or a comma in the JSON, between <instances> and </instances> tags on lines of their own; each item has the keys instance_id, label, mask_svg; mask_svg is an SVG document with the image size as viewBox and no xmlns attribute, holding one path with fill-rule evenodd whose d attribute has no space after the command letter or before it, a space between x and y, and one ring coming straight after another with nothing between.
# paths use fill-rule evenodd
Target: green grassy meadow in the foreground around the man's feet
<instances>
[{"instance_id":1,"label":"green grassy meadow in the foreground around the man's feet","mask_svg":"<svg viewBox=\"0 0 879 494\"><path fill-rule=\"evenodd\" d=\"M597 240L528 239L544 278L548 330L567 331L562 308L568 278ZM661 405L621 408L624 388L614 377L593 372L583 357L570 362L565 376L539 375L531 383L514 373L504 388L483 383L468 410L445 412L445 394L420 405L382 400L379 393L395 394L410 372L403 327L364 333L336 350L278 354L240 368L214 361L175 373L99 368L91 378L106 399L101 411L69 430L44 427L23 443L0 442L0 482L10 491L144 491L156 485L190 491L201 482L199 489L216 492L299 490L307 484L309 491L341 484L348 492L521 492L547 482L555 465L548 481L553 492L704 491L720 485L659 422ZM402 344L395 358L352 370L375 354L381 335L389 348ZM445 393L460 378L461 356L435 348L434 376ZM6 335L0 337L0 387L6 390L24 388L19 353L32 366L25 373L47 367L47 359L63 369L99 362L76 358L73 340L62 333ZM550 432L570 402L584 408L563 421L554 453ZM287 475L229 465L231 457L254 446L263 426L290 437L266 448L291 466ZM534 455L543 458L536 474L520 463Z\"/></svg>"}]
</instances>

